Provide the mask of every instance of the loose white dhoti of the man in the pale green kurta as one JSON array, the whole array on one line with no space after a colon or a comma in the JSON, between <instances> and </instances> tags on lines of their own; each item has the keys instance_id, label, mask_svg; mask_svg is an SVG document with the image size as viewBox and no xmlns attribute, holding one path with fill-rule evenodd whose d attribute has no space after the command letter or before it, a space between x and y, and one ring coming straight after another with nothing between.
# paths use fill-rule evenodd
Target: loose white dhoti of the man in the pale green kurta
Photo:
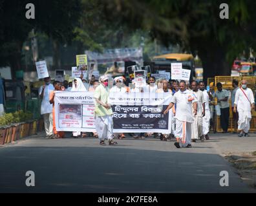
<instances>
[{"instance_id":1,"label":"loose white dhoti of the man in the pale green kurta","mask_svg":"<svg viewBox=\"0 0 256 206\"><path fill-rule=\"evenodd\" d=\"M99 141L112 140L113 138L113 119L112 116L96 117L96 131Z\"/></svg>"}]
</instances>

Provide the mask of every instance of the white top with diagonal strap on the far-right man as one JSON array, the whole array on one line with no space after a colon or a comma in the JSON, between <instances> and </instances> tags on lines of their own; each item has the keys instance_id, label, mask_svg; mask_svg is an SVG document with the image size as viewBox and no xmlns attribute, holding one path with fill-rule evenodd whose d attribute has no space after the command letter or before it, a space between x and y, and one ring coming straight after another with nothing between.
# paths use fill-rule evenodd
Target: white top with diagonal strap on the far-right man
<instances>
[{"instance_id":1,"label":"white top with diagonal strap on the far-right man","mask_svg":"<svg viewBox=\"0 0 256 206\"><path fill-rule=\"evenodd\" d=\"M234 104L237 105L237 111L247 111L248 113L251 113L251 104L254 104L254 97L253 92L250 88L243 89L244 93L248 97L244 95L242 92L242 88L237 89L237 92L235 93L235 102ZM249 102L250 101L250 102Z\"/></svg>"}]
</instances>

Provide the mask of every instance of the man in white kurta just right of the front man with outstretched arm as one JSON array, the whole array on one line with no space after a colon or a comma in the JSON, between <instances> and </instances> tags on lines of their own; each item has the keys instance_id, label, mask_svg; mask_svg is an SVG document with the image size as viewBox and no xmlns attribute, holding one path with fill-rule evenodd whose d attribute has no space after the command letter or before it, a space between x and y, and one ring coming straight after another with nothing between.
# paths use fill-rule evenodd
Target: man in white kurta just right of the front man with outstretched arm
<instances>
[{"instance_id":1,"label":"man in white kurta just right of the front man with outstretched arm","mask_svg":"<svg viewBox=\"0 0 256 206\"><path fill-rule=\"evenodd\" d=\"M191 88L193 89L193 94L197 98L197 115L194 116L195 121L192 124L192 142L196 140L203 141L203 125L202 118L205 115L205 104L206 100L204 99L204 93L198 89L198 83L193 81L191 83ZM193 109L193 108L192 108Z\"/></svg>"}]
</instances>

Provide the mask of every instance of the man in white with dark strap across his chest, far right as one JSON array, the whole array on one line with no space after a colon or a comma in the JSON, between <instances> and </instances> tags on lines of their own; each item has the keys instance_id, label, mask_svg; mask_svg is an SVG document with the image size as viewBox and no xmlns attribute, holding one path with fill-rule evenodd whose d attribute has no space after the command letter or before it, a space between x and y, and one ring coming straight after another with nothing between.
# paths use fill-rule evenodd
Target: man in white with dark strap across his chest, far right
<instances>
[{"instance_id":1,"label":"man in white with dark strap across his chest, far right","mask_svg":"<svg viewBox=\"0 0 256 206\"><path fill-rule=\"evenodd\" d=\"M249 136L251 110L255 108L254 104L253 92L250 88L247 88L247 81L242 80L241 87L235 94L233 109L234 113L239 113L238 129L241 131L239 137Z\"/></svg>"}]
</instances>

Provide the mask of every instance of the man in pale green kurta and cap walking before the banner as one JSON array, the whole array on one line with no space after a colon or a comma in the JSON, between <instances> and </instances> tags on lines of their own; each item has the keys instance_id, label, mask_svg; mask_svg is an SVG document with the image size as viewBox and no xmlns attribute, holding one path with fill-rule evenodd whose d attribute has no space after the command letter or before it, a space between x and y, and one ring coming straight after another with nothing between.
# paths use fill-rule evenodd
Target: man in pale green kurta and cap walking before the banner
<instances>
[{"instance_id":1,"label":"man in pale green kurta and cap walking before the banner","mask_svg":"<svg viewBox=\"0 0 256 206\"><path fill-rule=\"evenodd\" d=\"M99 79L100 85L95 89L95 126L98 133L100 145L105 145L105 139L109 140L109 145L117 144L113 139L112 109L109 105L108 77L103 75Z\"/></svg>"}]
</instances>

